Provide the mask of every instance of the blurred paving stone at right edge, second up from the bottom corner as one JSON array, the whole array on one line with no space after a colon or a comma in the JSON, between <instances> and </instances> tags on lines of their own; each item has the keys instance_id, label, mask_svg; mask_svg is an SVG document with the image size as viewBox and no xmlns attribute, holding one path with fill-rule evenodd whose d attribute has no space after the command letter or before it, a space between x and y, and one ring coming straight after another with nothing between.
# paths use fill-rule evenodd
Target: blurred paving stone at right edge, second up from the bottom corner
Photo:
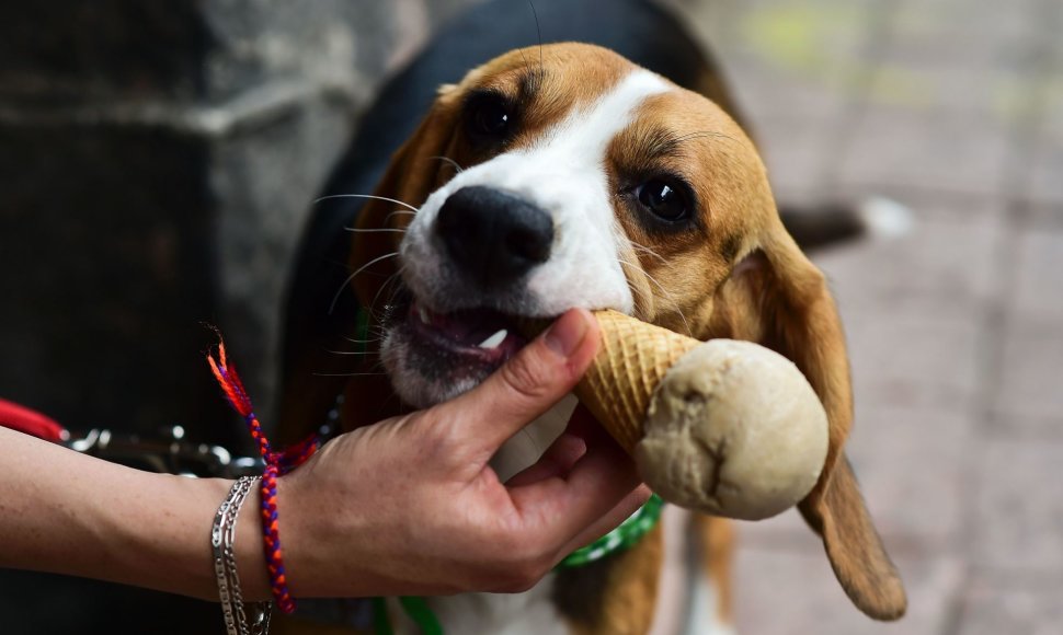
<instances>
[{"instance_id":1,"label":"blurred paving stone at right edge, second up from the bottom corner","mask_svg":"<svg viewBox=\"0 0 1063 635\"><path fill-rule=\"evenodd\" d=\"M974 556L999 573L1063 570L1063 442L987 440L974 489Z\"/></svg>"}]
</instances>

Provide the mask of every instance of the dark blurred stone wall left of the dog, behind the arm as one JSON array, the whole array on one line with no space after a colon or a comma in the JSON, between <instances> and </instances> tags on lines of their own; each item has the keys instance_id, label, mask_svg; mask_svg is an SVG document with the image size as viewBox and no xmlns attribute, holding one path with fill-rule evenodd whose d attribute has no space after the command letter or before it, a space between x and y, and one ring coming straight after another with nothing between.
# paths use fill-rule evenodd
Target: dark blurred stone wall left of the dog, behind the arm
<instances>
[{"instance_id":1,"label":"dark blurred stone wall left of the dog, behind the arm","mask_svg":"<svg viewBox=\"0 0 1063 635\"><path fill-rule=\"evenodd\" d=\"M385 74L471 1L0 3L0 397L250 451L203 323L268 420L309 204ZM0 613L4 634L221 626L209 603L18 572Z\"/></svg>"}]
</instances>

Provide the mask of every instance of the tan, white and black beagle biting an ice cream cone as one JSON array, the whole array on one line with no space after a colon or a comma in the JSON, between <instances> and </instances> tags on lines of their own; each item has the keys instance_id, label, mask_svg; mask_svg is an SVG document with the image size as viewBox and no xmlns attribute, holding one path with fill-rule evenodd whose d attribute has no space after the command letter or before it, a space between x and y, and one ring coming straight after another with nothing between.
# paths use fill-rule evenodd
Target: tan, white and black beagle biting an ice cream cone
<instances>
[{"instance_id":1,"label":"tan, white and black beagle biting an ice cream cone","mask_svg":"<svg viewBox=\"0 0 1063 635\"><path fill-rule=\"evenodd\" d=\"M483 20L481 27L491 26L477 33L499 32L504 41L506 24L527 27L530 21L513 20L517 4L488 2L466 20ZM610 16L594 11L591 0L536 8L544 35L583 28L574 34L580 39L625 56L574 42L508 50L439 85L382 174L362 151L379 159L385 149L356 141L361 151L341 162L327 190L367 193L359 189L366 174L378 183L373 198L364 205L356 199L357 232L342 229L351 208L333 208L317 212L305 239L320 249L304 249L292 290L281 437L304 436L336 394L345 395L342 420L350 429L468 390L525 343L514 328L517 316L609 308L700 339L757 342L801 369L828 415L826 464L799 504L802 516L856 607L873 619L900 617L906 605L901 580L843 452L853 397L834 301L784 226L718 71L681 25L649 2L611 2ZM603 24L616 20L624 26ZM462 28L461 45L471 46L475 25L459 21ZM639 33L644 37L625 38ZM632 43L655 43L670 55L683 50L668 58ZM400 76L400 84L424 72L416 64L435 64L424 61L432 54ZM393 86L378 102L391 109L377 112L378 105L369 115L378 120L366 125L386 126L393 108L404 107L388 101ZM323 258L322 252L333 255ZM350 269L338 273L325 261L344 252ZM336 295L348 284L356 304L352 295ZM361 332L379 334L379 343L369 342L356 361L329 356L343 337L361 339L357 308L367 320ZM321 318L325 313L331 318ZM352 377L331 377L344 374ZM386 394L396 396L380 399ZM533 463L572 407L562 402L534 422L530 447L515 447L516 439L504 448L496 457L500 475ZM524 593L427 602L447 633L730 632L730 524L697 517L686 531L686 523L666 517L636 546L558 570ZM663 581L662 562L675 549L668 541L684 535L690 538L686 553L704 565L690 578L700 589L693 594ZM674 620L667 626L665 612L696 616L683 627ZM304 623L285 626L315 632Z\"/></svg>"}]
</instances>

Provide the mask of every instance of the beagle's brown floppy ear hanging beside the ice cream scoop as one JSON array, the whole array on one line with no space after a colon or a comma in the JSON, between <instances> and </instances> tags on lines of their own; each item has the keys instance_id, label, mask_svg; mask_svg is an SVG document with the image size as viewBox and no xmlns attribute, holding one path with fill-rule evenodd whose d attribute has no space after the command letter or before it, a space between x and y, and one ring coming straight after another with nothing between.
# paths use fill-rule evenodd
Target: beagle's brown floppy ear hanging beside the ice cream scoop
<instances>
[{"instance_id":1,"label":"beagle's brown floppy ear hanging beside the ice cream scoop","mask_svg":"<svg viewBox=\"0 0 1063 635\"><path fill-rule=\"evenodd\" d=\"M906 598L843 453L853 423L845 336L823 274L773 215L757 249L735 267L722 292L733 336L753 339L792 360L808 378L830 420L823 472L799 504L823 539L834 573L853 602L871 617L895 620Z\"/></svg>"}]
</instances>

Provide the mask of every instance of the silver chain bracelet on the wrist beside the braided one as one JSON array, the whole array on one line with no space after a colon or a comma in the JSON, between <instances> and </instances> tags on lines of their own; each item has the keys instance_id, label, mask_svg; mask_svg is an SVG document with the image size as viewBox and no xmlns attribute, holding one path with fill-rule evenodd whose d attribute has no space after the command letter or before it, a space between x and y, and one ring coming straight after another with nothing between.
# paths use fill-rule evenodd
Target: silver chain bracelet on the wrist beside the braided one
<instances>
[{"instance_id":1,"label":"silver chain bracelet on the wrist beside the braided one","mask_svg":"<svg viewBox=\"0 0 1063 635\"><path fill-rule=\"evenodd\" d=\"M270 632L270 613L273 602L255 602L252 620L248 621L243 594L240 591L240 577L237 575L236 543L237 518L240 507L255 488L259 480L241 476L229 488L229 495L221 501L214 517L210 530L210 546L214 550L214 573L218 579L218 597L221 600L221 614L228 635L266 635Z\"/></svg>"}]
</instances>

